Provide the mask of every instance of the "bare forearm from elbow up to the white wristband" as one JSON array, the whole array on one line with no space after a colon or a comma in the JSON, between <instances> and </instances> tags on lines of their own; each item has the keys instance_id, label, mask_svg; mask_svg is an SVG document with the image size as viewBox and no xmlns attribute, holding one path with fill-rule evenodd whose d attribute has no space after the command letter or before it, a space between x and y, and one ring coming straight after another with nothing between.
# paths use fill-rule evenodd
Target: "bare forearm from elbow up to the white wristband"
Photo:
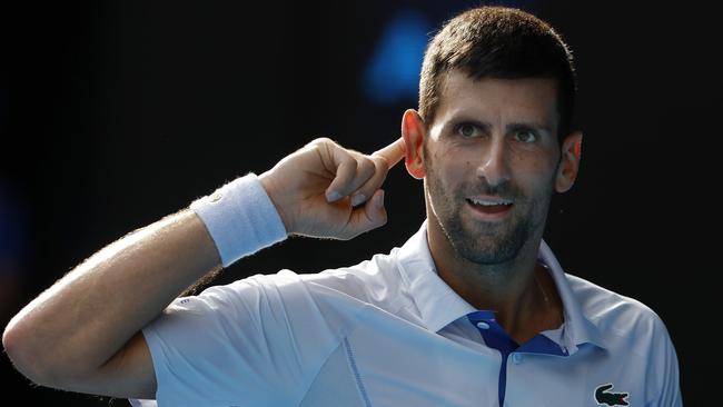
<instances>
[{"instance_id":1,"label":"bare forearm from elbow up to the white wristband","mask_svg":"<svg viewBox=\"0 0 723 407\"><path fill-rule=\"evenodd\" d=\"M55 369L82 375L219 267L201 220L190 210L176 214L78 266L10 321L3 343L31 378L52 376Z\"/></svg>"}]
</instances>

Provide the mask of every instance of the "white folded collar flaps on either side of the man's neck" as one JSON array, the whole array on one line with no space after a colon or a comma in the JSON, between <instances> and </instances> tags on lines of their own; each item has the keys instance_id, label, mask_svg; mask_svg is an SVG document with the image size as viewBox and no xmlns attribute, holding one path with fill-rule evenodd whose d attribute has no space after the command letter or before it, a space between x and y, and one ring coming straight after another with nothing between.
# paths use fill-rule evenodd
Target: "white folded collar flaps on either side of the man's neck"
<instances>
[{"instance_id":1,"label":"white folded collar flaps on either side of the man's neck","mask_svg":"<svg viewBox=\"0 0 723 407\"><path fill-rule=\"evenodd\" d=\"M600 329L583 314L564 270L544 241L539 245L538 258L547 265L563 301L565 324L562 340L565 344L561 345L567 346L571 353L585 343L604 348ZM427 329L438 332L455 320L477 311L437 275L427 242L427 220L397 251L397 266Z\"/></svg>"}]
</instances>

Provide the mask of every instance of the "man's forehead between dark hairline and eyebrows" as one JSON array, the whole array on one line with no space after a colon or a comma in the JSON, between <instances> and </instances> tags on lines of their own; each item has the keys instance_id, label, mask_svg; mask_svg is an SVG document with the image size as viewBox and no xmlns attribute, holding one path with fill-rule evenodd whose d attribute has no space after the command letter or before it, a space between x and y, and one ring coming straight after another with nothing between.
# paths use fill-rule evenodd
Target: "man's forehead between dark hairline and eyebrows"
<instances>
[{"instance_id":1,"label":"man's forehead between dark hairline and eyebrows","mask_svg":"<svg viewBox=\"0 0 723 407\"><path fill-rule=\"evenodd\" d=\"M488 122L531 121L556 128L557 86L554 79L482 78L465 72L446 75L439 92L435 121L469 116Z\"/></svg>"}]
</instances>

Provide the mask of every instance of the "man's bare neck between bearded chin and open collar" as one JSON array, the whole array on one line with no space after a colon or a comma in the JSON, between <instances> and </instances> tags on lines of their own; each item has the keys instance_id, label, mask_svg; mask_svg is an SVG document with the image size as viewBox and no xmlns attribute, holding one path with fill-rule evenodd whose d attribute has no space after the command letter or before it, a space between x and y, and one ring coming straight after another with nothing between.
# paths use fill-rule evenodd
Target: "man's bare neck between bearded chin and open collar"
<instances>
[{"instance_id":1,"label":"man's bare neck between bearded chin and open collar","mask_svg":"<svg viewBox=\"0 0 723 407\"><path fill-rule=\"evenodd\" d=\"M476 309L494 310L497 322L518 344L562 324L554 282L537 262L542 237L529 239L515 258L498 265L459 256L436 219L428 221L427 240L439 277Z\"/></svg>"}]
</instances>

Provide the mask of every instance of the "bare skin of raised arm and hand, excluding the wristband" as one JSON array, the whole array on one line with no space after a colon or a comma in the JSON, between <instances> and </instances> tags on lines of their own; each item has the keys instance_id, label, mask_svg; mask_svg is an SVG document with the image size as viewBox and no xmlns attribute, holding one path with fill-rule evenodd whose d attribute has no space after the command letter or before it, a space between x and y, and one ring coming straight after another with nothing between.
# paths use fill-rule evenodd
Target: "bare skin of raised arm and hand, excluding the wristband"
<instances>
[{"instance_id":1,"label":"bare skin of raised arm and hand, excluding the wristband","mask_svg":"<svg viewBox=\"0 0 723 407\"><path fill-rule=\"evenodd\" d=\"M402 139L372 156L318 139L259 180L288 234L349 239L386 222L378 188L402 157ZM56 282L10 321L3 346L40 385L152 398L156 378L139 330L220 265L205 224L181 211L108 246Z\"/></svg>"}]
</instances>

